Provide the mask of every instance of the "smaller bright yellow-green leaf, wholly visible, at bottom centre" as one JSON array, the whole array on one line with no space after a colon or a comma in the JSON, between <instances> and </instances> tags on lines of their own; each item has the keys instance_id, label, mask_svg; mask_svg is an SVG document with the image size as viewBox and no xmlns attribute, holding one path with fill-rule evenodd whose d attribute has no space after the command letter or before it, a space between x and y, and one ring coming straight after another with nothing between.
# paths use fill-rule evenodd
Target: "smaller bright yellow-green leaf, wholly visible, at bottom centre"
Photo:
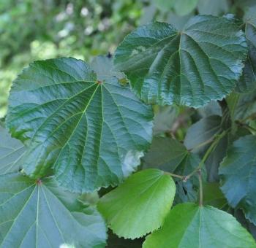
<instances>
[{"instance_id":1,"label":"smaller bright yellow-green leaf, wholly visible, at bottom centre","mask_svg":"<svg viewBox=\"0 0 256 248\"><path fill-rule=\"evenodd\" d=\"M162 225L173 204L173 179L157 169L140 171L104 195L98 204L113 233L135 239Z\"/></svg>"}]
</instances>

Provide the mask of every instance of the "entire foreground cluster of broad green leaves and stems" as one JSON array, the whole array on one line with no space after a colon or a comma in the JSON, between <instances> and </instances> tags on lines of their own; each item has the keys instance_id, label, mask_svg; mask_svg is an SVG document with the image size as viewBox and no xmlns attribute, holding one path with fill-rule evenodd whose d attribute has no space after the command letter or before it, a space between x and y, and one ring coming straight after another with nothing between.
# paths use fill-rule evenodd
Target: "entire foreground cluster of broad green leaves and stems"
<instances>
[{"instance_id":1,"label":"entire foreground cluster of broad green leaves and stems","mask_svg":"<svg viewBox=\"0 0 256 248\"><path fill-rule=\"evenodd\" d=\"M13 82L1 247L105 247L106 225L140 238L127 246L256 247L255 20L150 23L113 57L36 61Z\"/></svg>"}]
</instances>

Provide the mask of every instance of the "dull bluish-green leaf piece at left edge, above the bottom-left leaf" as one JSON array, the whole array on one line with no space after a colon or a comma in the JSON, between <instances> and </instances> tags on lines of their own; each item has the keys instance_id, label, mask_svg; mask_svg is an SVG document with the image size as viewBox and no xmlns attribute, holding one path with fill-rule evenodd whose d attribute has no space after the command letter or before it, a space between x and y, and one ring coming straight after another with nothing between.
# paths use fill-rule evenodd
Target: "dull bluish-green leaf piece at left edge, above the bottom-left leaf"
<instances>
[{"instance_id":1,"label":"dull bluish-green leaf piece at left edge, above the bottom-left leaf","mask_svg":"<svg viewBox=\"0 0 256 248\"><path fill-rule=\"evenodd\" d=\"M0 175L18 172L24 152L26 147L17 139L12 139L7 130L0 126Z\"/></svg>"}]
</instances>

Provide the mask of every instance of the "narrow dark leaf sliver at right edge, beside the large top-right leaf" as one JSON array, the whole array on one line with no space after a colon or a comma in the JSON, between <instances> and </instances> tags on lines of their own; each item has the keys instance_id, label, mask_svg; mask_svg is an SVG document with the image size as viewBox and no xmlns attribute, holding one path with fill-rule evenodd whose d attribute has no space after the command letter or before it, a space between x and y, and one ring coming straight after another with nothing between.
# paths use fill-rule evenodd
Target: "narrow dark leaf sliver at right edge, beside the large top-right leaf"
<instances>
[{"instance_id":1,"label":"narrow dark leaf sliver at right edge, beside the large top-right leaf","mask_svg":"<svg viewBox=\"0 0 256 248\"><path fill-rule=\"evenodd\" d=\"M245 34L249 55L236 88L238 93L249 93L256 88L256 20L246 22Z\"/></svg>"}]
</instances>

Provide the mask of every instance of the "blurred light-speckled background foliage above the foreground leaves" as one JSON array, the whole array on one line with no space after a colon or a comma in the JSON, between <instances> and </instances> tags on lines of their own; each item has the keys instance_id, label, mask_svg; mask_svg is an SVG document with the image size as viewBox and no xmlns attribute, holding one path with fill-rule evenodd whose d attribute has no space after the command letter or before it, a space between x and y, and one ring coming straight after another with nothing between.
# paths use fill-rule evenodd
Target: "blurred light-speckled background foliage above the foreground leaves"
<instances>
[{"instance_id":1,"label":"blurred light-speckled background foliage above the foreground leaves","mask_svg":"<svg viewBox=\"0 0 256 248\"><path fill-rule=\"evenodd\" d=\"M255 0L1 0L0 117L7 112L12 80L31 61L91 61L113 53L140 24L159 20L182 28L192 15L231 12L242 18L255 13L255 6Z\"/></svg>"}]
</instances>

